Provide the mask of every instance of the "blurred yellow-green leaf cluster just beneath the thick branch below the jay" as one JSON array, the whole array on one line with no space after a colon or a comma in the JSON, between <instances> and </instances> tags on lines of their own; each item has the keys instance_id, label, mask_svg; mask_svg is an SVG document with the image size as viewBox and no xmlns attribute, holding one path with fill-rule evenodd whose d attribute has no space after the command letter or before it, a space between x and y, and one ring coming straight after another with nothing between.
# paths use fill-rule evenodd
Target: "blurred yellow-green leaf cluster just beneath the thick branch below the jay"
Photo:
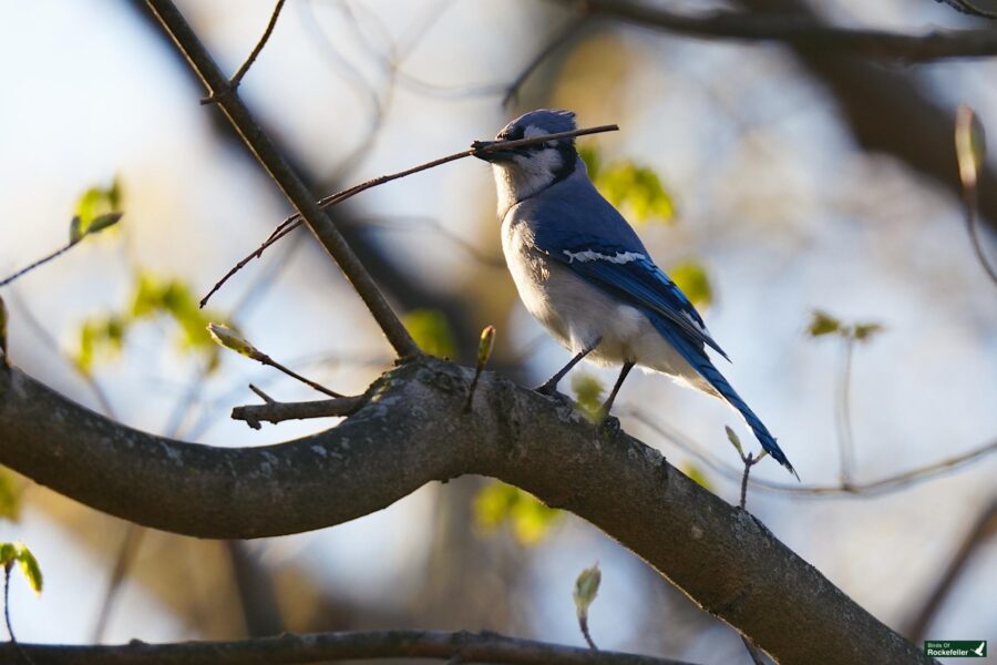
<instances>
[{"instance_id":1,"label":"blurred yellow-green leaf cluster just beneath the thick branch below the jay","mask_svg":"<svg viewBox=\"0 0 997 665\"><path fill-rule=\"evenodd\" d=\"M508 524L521 543L532 545L547 534L561 511L545 505L520 488L494 480L474 498L474 518L479 525L495 530Z\"/></svg>"}]
</instances>

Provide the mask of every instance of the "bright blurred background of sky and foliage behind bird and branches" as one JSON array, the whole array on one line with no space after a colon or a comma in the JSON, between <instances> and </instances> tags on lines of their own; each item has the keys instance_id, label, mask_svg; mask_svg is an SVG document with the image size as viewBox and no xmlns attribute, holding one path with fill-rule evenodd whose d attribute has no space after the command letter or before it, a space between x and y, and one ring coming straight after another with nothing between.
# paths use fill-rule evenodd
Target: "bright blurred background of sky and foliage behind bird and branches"
<instances>
[{"instance_id":1,"label":"bright blurred background of sky and foliage behind bird and branches","mask_svg":"<svg viewBox=\"0 0 997 665\"><path fill-rule=\"evenodd\" d=\"M302 231L249 264L208 314L188 306L291 211L217 111L198 104L203 88L142 3L2 4L0 276L63 245L88 190L116 178L125 211L114 229L2 290L13 362L129 426L185 440L258 446L329 427L255 431L228 418L258 401L250 382L281 400L315 393L212 346L194 334L203 321L238 326L342 392L362 391L392 354ZM273 10L268 0L178 4L226 71ZM821 6L842 24L978 25L931 0ZM777 434L801 487L831 490L780 490L793 481L765 460L752 477L778 488L752 488L750 510L905 630L994 502L997 456L888 491L834 489L849 437L851 481L865 485L997 436L997 289L958 197L860 147L833 94L780 47L575 20L561 3L533 0L289 0L240 91L317 194L462 150L534 108L572 109L582 125L619 123L619 133L579 140L600 164L600 186L695 291L733 359L721 369ZM949 115L968 103L997 127L993 60L875 66L906 74ZM955 171L954 155L947 166ZM424 345L469 362L493 324L494 368L526 385L567 359L516 298L482 162L366 192L333 217ZM882 329L854 342L847 329L812 337L815 309ZM589 398L614 378L584 366L574 375L562 388ZM741 463L723 426L756 443L732 411L636 372L617 405L627 431L737 502ZM23 642L428 627L584 645L572 589L598 561L589 623L600 647L750 662L732 628L598 530L486 479L426 485L332 529L225 543L132 528L4 474L20 514L0 521L0 540L28 543L45 575L38 598L12 582ZM995 564L997 541L984 540L924 637L997 638Z\"/></svg>"}]
</instances>

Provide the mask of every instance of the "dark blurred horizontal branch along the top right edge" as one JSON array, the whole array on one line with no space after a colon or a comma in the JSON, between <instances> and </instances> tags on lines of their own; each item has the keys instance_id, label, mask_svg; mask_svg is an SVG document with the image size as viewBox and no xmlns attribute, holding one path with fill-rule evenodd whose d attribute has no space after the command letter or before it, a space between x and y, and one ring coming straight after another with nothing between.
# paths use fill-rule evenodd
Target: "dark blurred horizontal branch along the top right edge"
<instances>
[{"instance_id":1,"label":"dark blurred horizontal branch along the top right edge","mask_svg":"<svg viewBox=\"0 0 997 665\"><path fill-rule=\"evenodd\" d=\"M573 0L562 0L574 4ZM841 53L923 62L945 58L997 55L997 31L936 30L902 34L828 25L806 16L765 16L716 11L696 16L631 0L586 0L583 11L707 39L781 42L820 53Z\"/></svg>"}]
</instances>

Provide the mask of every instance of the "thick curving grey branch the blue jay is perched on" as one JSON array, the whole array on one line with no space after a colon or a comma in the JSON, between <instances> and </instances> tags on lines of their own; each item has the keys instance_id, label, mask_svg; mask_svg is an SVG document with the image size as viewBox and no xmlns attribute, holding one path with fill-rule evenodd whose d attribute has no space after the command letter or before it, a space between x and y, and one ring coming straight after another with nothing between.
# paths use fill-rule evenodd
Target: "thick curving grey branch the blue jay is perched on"
<instances>
[{"instance_id":1,"label":"thick curving grey branch the blue jay is perched on","mask_svg":"<svg viewBox=\"0 0 997 665\"><path fill-rule=\"evenodd\" d=\"M929 663L749 513L625 433L492 372L422 358L379 378L337 428L212 448L125 428L0 371L0 463L105 512L202 538L319 529L433 480L502 479L589 520L782 664Z\"/></svg>"}]
</instances>

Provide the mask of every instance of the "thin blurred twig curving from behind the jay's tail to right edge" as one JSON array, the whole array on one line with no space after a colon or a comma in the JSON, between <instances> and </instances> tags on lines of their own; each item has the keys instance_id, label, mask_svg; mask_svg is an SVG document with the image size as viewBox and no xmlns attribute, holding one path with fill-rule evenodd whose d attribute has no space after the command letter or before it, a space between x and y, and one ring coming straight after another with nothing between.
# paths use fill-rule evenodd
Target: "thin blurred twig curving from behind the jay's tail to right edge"
<instances>
[{"instance_id":1,"label":"thin blurred twig curving from behind the jay's tail to right edge","mask_svg":"<svg viewBox=\"0 0 997 665\"><path fill-rule=\"evenodd\" d=\"M690 440L688 437L679 433L678 431L658 422L655 418L650 417L646 412L634 409L633 407L626 409L628 415L636 419L638 422L647 426L659 436L666 438L671 443L688 452L689 454L699 459L707 467L713 469L718 473L726 475L730 480L734 482L740 482L741 478L743 478L742 471L739 469L734 469L730 464L727 464L712 454L702 450L702 448ZM887 494L891 492L896 492L898 490L908 488L918 482L924 482L942 473L957 469L959 467L966 466L969 462L986 457L993 452L997 452L997 439L980 446L979 448L974 448L963 454L958 454L952 458L946 458L944 460L925 464L924 467L917 467L916 469L911 469L909 471L904 471L903 473L896 473L894 475L887 475L885 478L881 478L880 480L874 480L871 482L864 483L853 483L852 485L844 487L841 484L835 485L792 485L789 483L782 482L773 482L770 480L759 480L759 479L750 479L749 483L752 488L758 490L774 492L781 494L794 494L799 497L809 497L809 498L828 498L828 497L843 497L843 495L853 495L853 497L874 497Z\"/></svg>"}]
</instances>

